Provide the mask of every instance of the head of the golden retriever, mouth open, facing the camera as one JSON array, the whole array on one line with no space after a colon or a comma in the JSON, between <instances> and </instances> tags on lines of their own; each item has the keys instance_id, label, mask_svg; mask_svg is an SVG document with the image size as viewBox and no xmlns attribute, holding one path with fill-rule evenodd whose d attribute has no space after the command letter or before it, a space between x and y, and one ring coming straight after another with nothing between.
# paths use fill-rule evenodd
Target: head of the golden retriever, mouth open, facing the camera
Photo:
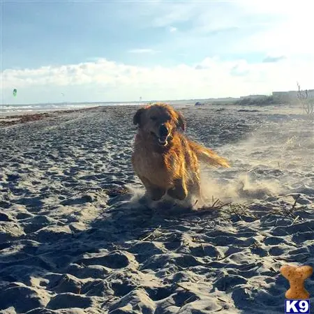
<instances>
[{"instance_id":1,"label":"head of the golden retriever, mouth open, facing the camera","mask_svg":"<svg viewBox=\"0 0 314 314\"><path fill-rule=\"evenodd\" d=\"M168 140L178 128L186 128L184 116L166 104L140 108L133 117L133 123L138 124L140 130L163 147L167 146Z\"/></svg>"}]
</instances>

